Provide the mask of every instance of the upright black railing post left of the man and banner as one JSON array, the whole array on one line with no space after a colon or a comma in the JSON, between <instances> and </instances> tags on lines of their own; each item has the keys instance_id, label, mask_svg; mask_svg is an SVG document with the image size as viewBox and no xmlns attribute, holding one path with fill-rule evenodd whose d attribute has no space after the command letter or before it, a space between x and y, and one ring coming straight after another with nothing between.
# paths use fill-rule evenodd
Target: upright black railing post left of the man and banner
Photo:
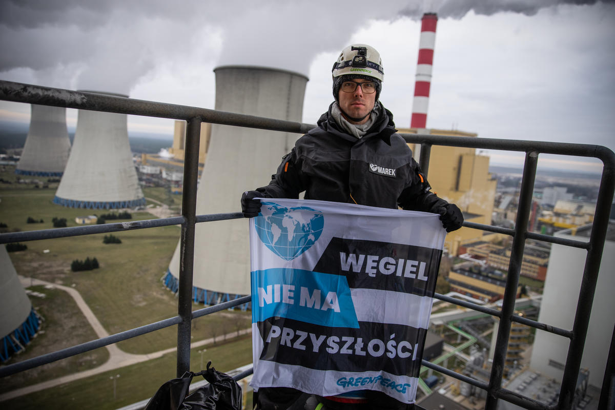
<instances>
[{"instance_id":1,"label":"upright black railing post left of the man and banner","mask_svg":"<svg viewBox=\"0 0 615 410\"><path fill-rule=\"evenodd\" d=\"M199 179L200 117L188 120L184 154L184 181L181 196L180 283L178 288L177 377L190 369L190 331L192 325L192 270L194 269L194 231L196 228L196 187Z\"/></svg>"}]
</instances>

